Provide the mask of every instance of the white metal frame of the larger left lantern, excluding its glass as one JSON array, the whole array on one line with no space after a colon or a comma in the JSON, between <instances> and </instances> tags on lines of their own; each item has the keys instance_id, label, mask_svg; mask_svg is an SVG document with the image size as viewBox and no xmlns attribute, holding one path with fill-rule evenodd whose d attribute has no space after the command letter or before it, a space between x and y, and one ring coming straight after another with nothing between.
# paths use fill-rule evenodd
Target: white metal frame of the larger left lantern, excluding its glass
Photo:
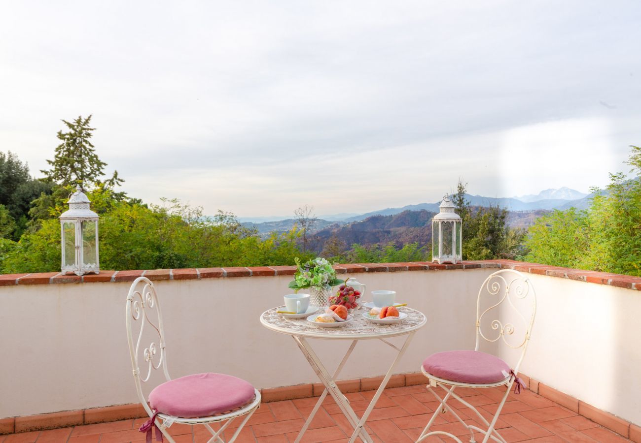
<instances>
[{"instance_id":1,"label":"white metal frame of the larger left lantern, excluding its glass","mask_svg":"<svg viewBox=\"0 0 641 443\"><path fill-rule=\"evenodd\" d=\"M87 273L99 273L99 248L98 248L98 214L89 209L91 204L87 195L83 193L80 186L76 186L76 191L69 195L69 210L65 211L58 217L60 219L60 243L62 250L61 257L61 273L62 275L74 273L76 275L85 275ZM85 263L85 248L83 242L85 241L85 225L83 223L94 223L94 236L96 241L96 262ZM72 223L74 225L74 263L65 263L65 253L67 239L65 238L65 223Z\"/></svg>"}]
</instances>

